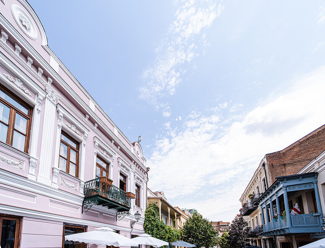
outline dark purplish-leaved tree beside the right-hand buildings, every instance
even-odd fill
[[[250,228],[242,216],[236,216],[229,227],[228,242],[230,248],[244,248],[249,243]]]

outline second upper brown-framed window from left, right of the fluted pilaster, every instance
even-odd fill
[[[72,176],[79,175],[79,142],[61,133],[59,168]]]

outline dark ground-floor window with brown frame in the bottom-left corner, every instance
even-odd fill
[[[0,216],[0,246],[18,248],[20,240],[21,218]]]

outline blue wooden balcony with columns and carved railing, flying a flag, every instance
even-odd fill
[[[277,180],[271,187],[256,201],[261,207],[263,222],[261,234],[263,236],[323,232],[323,213],[318,193],[317,176],[318,174],[313,172],[276,178]],[[300,192],[308,194],[310,190],[315,192],[318,213],[290,215],[288,196]],[[280,209],[280,201],[284,203],[285,211]],[[307,209],[307,206],[305,207]],[[286,213],[283,219],[277,215],[282,211]],[[268,212],[271,216],[267,214]],[[274,219],[273,216],[278,216],[278,219]]]

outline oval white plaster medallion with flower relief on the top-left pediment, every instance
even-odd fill
[[[32,22],[32,19],[25,13],[25,11],[16,4],[11,6],[12,15],[17,22],[19,28],[32,40],[37,39],[37,31]]]

